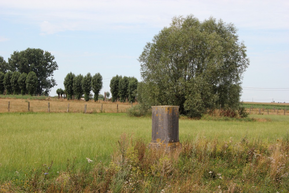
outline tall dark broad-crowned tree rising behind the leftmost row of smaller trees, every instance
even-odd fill
[[[8,58],[8,66],[11,71],[29,73],[33,71],[38,77],[36,93],[49,93],[56,84],[53,72],[58,69],[55,57],[50,52],[42,49],[27,48],[23,51],[14,51]]]

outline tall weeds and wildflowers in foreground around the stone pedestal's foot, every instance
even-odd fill
[[[56,174],[41,166],[1,192],[288,192],[288,155],[288,133],[272,144],[195,137],[175,149],[122,134],[108,164],[86,158],[77,169],[72,160]]]

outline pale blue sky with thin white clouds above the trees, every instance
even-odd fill
[[[8,61],[14,51],[43,49],[59,66],[51,96],[69,72],[99,72],[103,94],[116,74],[141,80],[137,58],[174,16],[213,16],[234,23],[247,46],[241,100],[289,103],[288,10],[289,1],[279,0],[0,0],[0,56]]]

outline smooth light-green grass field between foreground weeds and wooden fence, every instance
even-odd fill
[[[274,142],[286,135],[289,117],[254,115],[266,122],[180,120],[180,141],[197,136],[226,141],[260,138]],[[76,167],[86,158],[110,161],[122,133],[149,143],[151,118],[128,117],[125,113],[2,113],[0,114],[0,181],[24,177],[32,168],[53,161],[53,172],[66,170],[67,159]]]

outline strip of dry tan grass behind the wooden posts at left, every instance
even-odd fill
[[[69,103],[69,112],[82,113],[84,112],[84,105],[86,106],[87,113],[116,113],[117,103],[104,102],[93,100],[84,102],[79,100],[66,100],[66,99],[50,99],[50,100],[26,100],[26,99],[11,99],[1,98],[0,99],[0,113],[8,112],[8,101],[10,101],[10,112],[27,112],[28,102],[30,104],[30,111],[32,112],[48,112],[48,103],[50,103],[50,112],[64,113],[67,112]],[[129,103],[118,103],[118,112],[126,112],[126,109],[130,108]]]

